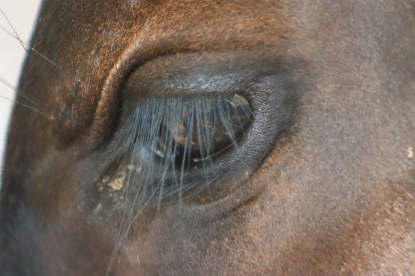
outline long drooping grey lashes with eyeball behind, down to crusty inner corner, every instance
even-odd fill
[[[200,191],[220,176],[211,167],[238,150],[252,120],[237,94],[145,99],[128,118],[124,157],[104,186],[158,203]]]

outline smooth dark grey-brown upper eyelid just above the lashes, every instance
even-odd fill
[[[264,77],[285,74],[281,57],[258,58],[254,52],[187,53],[150,60],[128,77],[123,94],[147,97],[246,93]],[[245,95],[249,98],[249,95]]]

